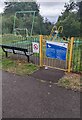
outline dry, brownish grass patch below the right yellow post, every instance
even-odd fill
[[[58,86],[82,92],[82,83],[80,78],[81,76],[79,74],[65,73],[65,75],[58,81]]]

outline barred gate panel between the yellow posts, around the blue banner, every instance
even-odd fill
[[[64,40],[63,38],[53,38],[53,40],[50,39],[50,36],[43,36],[43,65],[56,68],[56,69],[61,69],[61,70],[67,70],[67,61],[64,60],[59,60],[59,59],[54,59],[54,58],[49,58],[46,56],[46,42],[51,41],[51,42],[57,42],[57,43],[67,43],[68,41]]]

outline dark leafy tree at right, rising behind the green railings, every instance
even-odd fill
[[[62,13],[61,16],[59,16],[56,25],[63,26],[64,36],[67,37],[80,36],[81,21],[80,21],[80,16],[78,14],[79,7],[77,3],[71,2],[65,4],[64,7],[65,7],[65,11]]]

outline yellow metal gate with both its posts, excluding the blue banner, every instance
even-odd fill
[[[72,50],[73,50],[73,41],[72,37],[69,41],[63,40],[63,43],[67,43],[67,54],[66,60],[59,60],[54,58],[49,58],[46,56],[46,41],[49,41],[48,38],[40,35],[40,66],[48,66],[50,68],[55,68],[64,71],[71,71],[71,61],[72,61]],[[61,42],[61,40],[57,40],[56,42]]]

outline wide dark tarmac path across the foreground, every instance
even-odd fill
[[[80,117],[79,92],[8,72],[3,72],[2,84],[3,118]]]

